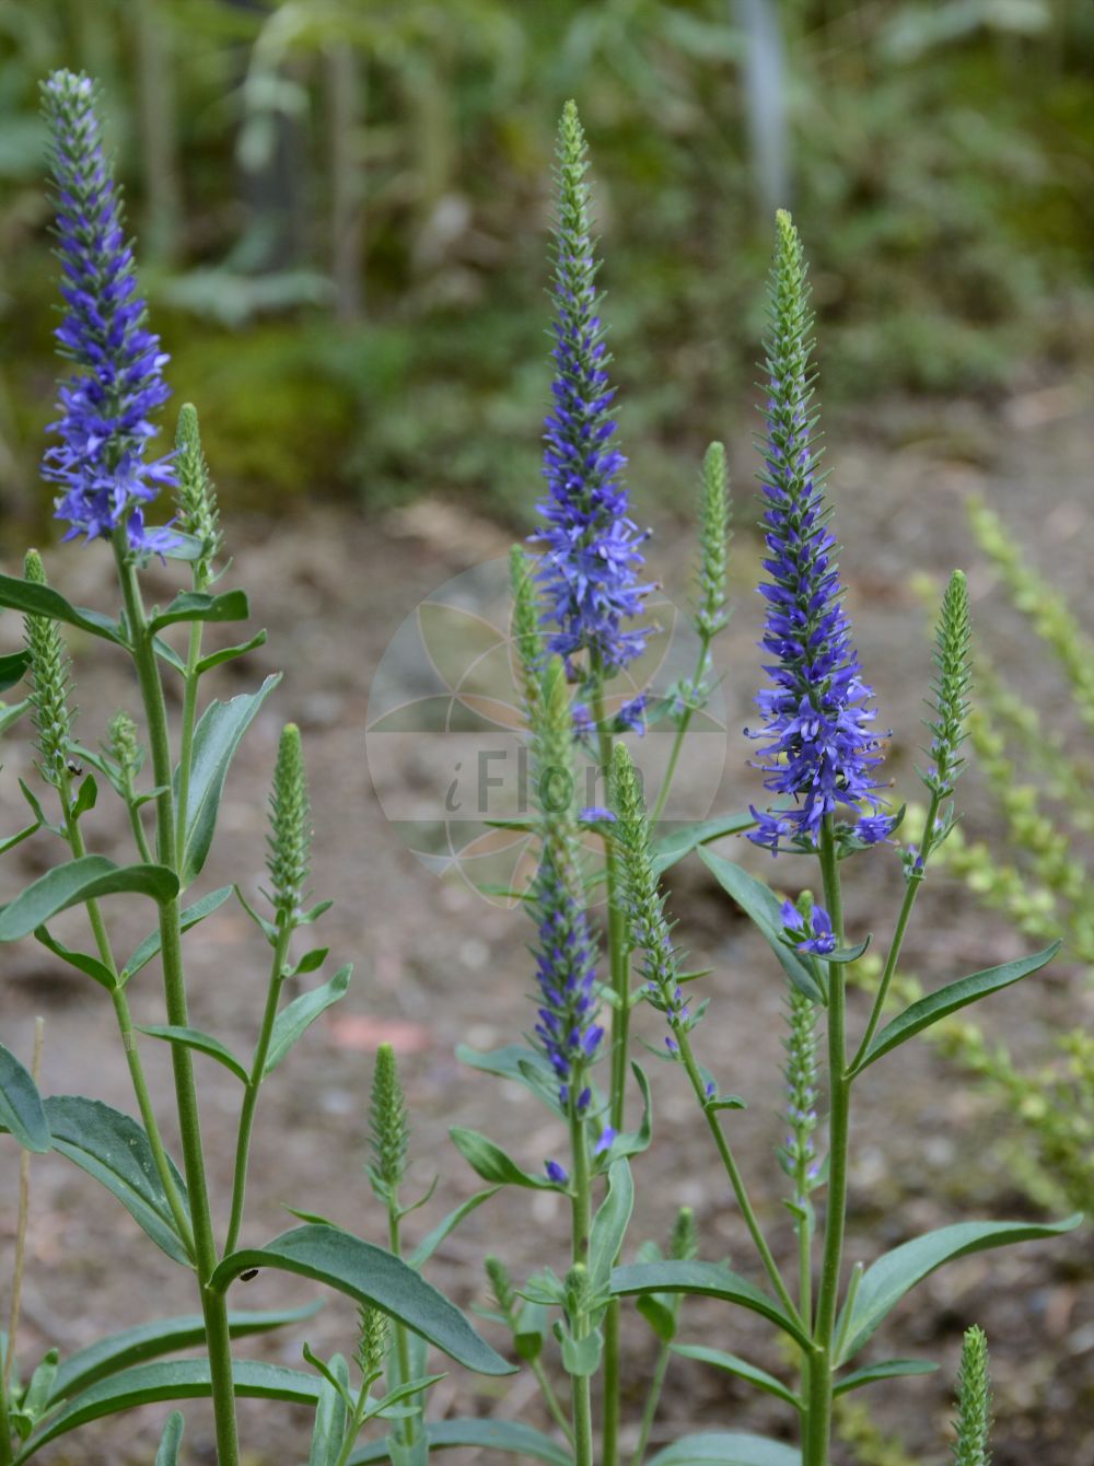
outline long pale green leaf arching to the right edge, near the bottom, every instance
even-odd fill
[[[1041,1237],[1059,1237],[1073,1231],[1082,1215],[1065,1221],[1038,1226],[1027,1221],[959,1221],[952,1227],[940,1227],[924,1237],[905,1242],[886,1252],[862,1274],[862,1281],[853,1297],[851,1318],[845,1321],[840,1312],[836,1337],[843,1338],[837,1365],[845,1363],[865,1344],[877,1325],[893,1309],[909,1289],[915,1287],[928,1272],[943,1262],[983,1252],[988,1248],[1003,1248],[1010,1242],[1037,1242]]]

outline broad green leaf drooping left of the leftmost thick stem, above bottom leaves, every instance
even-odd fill
[[[101,1182],[157,1248],[189,1267],[191,1259],[175,1230],[148,1136],[136,1120],[82,1095],[51,1095],[44,1108],[54,1151]],[[185,1207],[186,1185],[173,1165],[172,1174]]]

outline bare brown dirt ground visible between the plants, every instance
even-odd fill
[[[881,720],[897,730],[889,759],[896,792],[914,798],[917,720],[930,660],[922,611],[908,586],[909,572],[941,576],[955,563],[966,564],[978,632],[1029,696],[1063,715],[1051,668],[1007,613],[969,542],[963,501],[971,493],[987,496],[1034,559],[1073,591],[1081,607],[1088,605],[1094,438],[1081,416],[1081,396],[1072,388],[1031,391],[991,413],[961,403],[930,409],[892,405],[883,422],[846,421],[830,430],[829,438],[849,608]],[[751,481],[752,472],[748,440],[745,425],[736,434],[739,450],[733,454],[741,485]],[[744,525],[751,519],[748,494],[741,490],[736,497],[736,517]],[[685,515],[656,503],[642,507],[657,529],[651,550],[657,572],[670,591],[682,594],[691,556]],[[236,554],[227,583],[248,586],[255,623],[268,627],[270,642],[245,663],[221,670],[216,690],[227,696],[248,689],[277,667],[287,668],[287,674],[233,765],[201,888],[239,880],[254,891],[263,881],[268,771],[280,723],[296,720],[305,734],[312,787],[314,887],[318,896],[336,899],[321,938],[331,947],[331,962],[356,962],[353,987],[333,1010],[337,1017],[328,1014],[317,1025],[264,1091],[245,1239],[261,1242],[289,1226],[290,1218],[279,1209],[279,1202],[289,1202],[323,1211],[381,1240],[381,1211],[361,1164],[370,1050],[389,1034],[406,1048],[402,1073],[414,1116],[412,1180],[424,1187],[434,1173],[440,1174],[433,1201],[408,1221],[414,1239],[477,1189],[477,1179],[447,1141],[450,1124],[487,1130],[532,1168],[560,1142],[553,1120],[537,1111],[524,1091],[502,1088],[453,1058],[458,1042],[487,1048],[512,1041],[528,1026],[526,919],[427,872],[386,824],[365,758],[370,680],[394,629],[434,586],[504,553],[509,535],[441,500],[419,501],[414,510],[383,522],[328,504],[314,507],[306,520],[239,522],[230,512],[227,519]],[[736,736],[748,721],[758,676],[760,604],[746,592],[757,553],[755,537],[742,528],[732,572],[738,610],[719,647],[730,726],[719,809],[741,808],[757,792],[755,776],[745,767],[745,743]],[[48,556],[48,567],[70,598],[109,608],[113,598],[107,559],[101,550],[66,548]],[[166,589],[164,583],[161,598]],[[9,641],[18,636],[15,620],[4,619]],[[92,743],[113,708],[132,702],[132,693],[125,667],[103,644],[76,641],[73,651],[82,736]],[[704,748],[704,756],[713,756],[710,749]],[[16,776],[32,774],[25,729],[9,739],[4,764],[0,828],[7,830],[21,821]],[[975,781],[969,778],[966,800],[974,793]],[[104,853],[128,858],[122,825],[106,799],[103,805],[88,828]],[[991,830],[990,818],[975,809],[969,825],[974,831]],[[768,877],[777,875],[790,888],[808,878],[799,862],[771,869],[757,852],[733,847],[732,841],[723,849]],[[7,862],[3,890],[15,891],[37,875],[50,853],[41,840],[21,847],[18,859]],[[697,861],[678,868],[673,888],[682,940],[697,965],[714,968],[705,984],[711,1007],[698,1047],[724,1086],[749,1101],[748,1111],[727,1123],[776,1250],[789,1259],[792,1234],[770,1160],[779,1138],[783,1035],[773,959]],[[884,932],[899,890],[892,852],[855,862],[848,894],[851,931],[874,927]],[[111,919],[120,947],[144,934],[116,903]],[[1000,918],[985,915],[956,888],[937,881],[921,897],[906,960],[925,981],[940,982],[1022,950],[1022,940]],[[246,919],[226,906],[186,938],[186,951],[192,1020],[246,1053],[264,991],[264,946]],[[161,1020],[153,968],[135,984],[133,1003],[138,1022]],[[59,969],[41,949],[21,946],[4,956],[3,1041],[23,1057],[38,1013],[45,1017],[43,1089],[84,1092],[132,1110],[104,994]],[[1037,1053],[1047,1044],[1050,1025],[1073,1020],[1076,1013],[1094,1017],[1094,991],[1088,982],[1084,987],[1079,970],[1060,960],[1046,976],[994,1000],[985,1022],[1022,1053]],[[861,1022],[858,1006],[855,1017]],[[641,1019],[653,1039],[654,1020],[653,1013]],[[164,1056],[151,1039],[144,1051],[161,1113],[167,1114]],[[653,1067],[656,1136],[653,1149],[635,1165],[639,1204],[629,1248],[645,1236],[663,1237],[675,1205],[688,1202],[698,1215],[704,1256],[730,1255],[735,1267],[758,1278],[708,1136],[697,1124],[679,1076],[666,1066]],[[199,1079],[211,1183],[223,1224],[238,1089],[224,1070],[208,1063],[201,1063]],[[971,1215],[1035,1215],[1000,1160],[997,1142],[1009,1121],[928,1048],[902,1050],[873,1070],[856,1095],[852,1259],[871,1259],[922,1230]],[[12,1143],[3,1145],[9,1180],[0,1202],[0,1248],[9,1259],[16,1158]],[[189,1278],[169,1265],[81,1171],[59,1157],[35,1158],[32,1190],[19,1341],[23,1359],[37,1358],[54,1341],[70,1352],[103,1331],[192,1311]],[[465,1306],[482,1302],[481,1262],[487,1252],[507,1258],[518,1277],[544,1264],[562,1268],[565,1221],[556,1196],[504,1193],[443,1246],[428,1275]],[[308,1299],[315,1289],[263,1274],[239,1286],[238,1294],[241,1306],[263,1308]],[[1060,1242],[952,1265],[892,1315],[871,1346],[871,1358],[911,1353],[941,1363],[934,1377],[895,1381],[875,1387],[873,1394],[878,1421],[899,1432],[915,1460],[941,1462],[946,1456],[961,1331],[971,1321],[985,1327],[991,1343],[997,1466],[1032,1459],[1040,1466],[1093,1460],[1094,1264],[1088,1227]],[[685,1334],[768,1368],[783,1366],[761,1325],[722,1306],[689,1305]],[[305,1337],[320,1352],[350,1352],[352,1309],[334,1299],[306,1328],[245,1347],[257,1358],[298,1365]],[[651,1336],[636,1315],[628,1321],[625,1343],[626,1407],[634,1421],[654,1358]],[[41,1460],[54,1466],[150,1462],[166,1409],[100,1422],[44,1451]],[[534,1388],[524,1375],[515,1382],[490,1382],[453,1368],[433,1393],[433,1413],[472,1412],[540,1421]],[[188,1460],[213,1462],[207,1407],[188,1403],[185,1413]],[[252,1466],[306,1457],[302,1412],[245,1401],[241,1416]],[[785,1409],[767,1397],[679,1360],[656,1441],[666,1443],[689,1428],[780,1434],[788,1421]],[[478,1457],[462,1453],[462,1459]],[[874,1463],[862,1460],[861,1466]]]

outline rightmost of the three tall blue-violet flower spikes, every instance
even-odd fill
[[[871,689],[859,674],[843,613],[836,541],[827,529],[829,507],[817,474],[817,409],[812,406],[812,311],[798,232],[790,216],[777,216],[771,273],[770,330],[766,339],[768,400],[764,409],[763,525],[768,579],[761,642],[774,661],[764,670],[771,686],[757,696],[764,726],[758,767],[764,787],[789,795],[792,809],[757,814],[749,834],[773,853],[782,840],[817,844],[821,821],[843,814],[856,821],[878,808],[871,777],[881,762],[870,732]]]

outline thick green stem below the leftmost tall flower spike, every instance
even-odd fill
[[[160,861],[175,865],[175,799],[172,793],[172,755],[167,736],[167,708],[155,661],[155,648],[148,632],[136,569],[129,559],[125,529],[116,531],[114,554],[125,614],[132,638],[133,661],[141,685],[148,743],[153,755],[153,777],[161,790],[155,798],[155,837]],[[160,903],[160,951],[163,962],[167,1020],[182,1028],[188,1025],[186,978],[182,963],[182,929],[179,925],[179,897]],[[205,1160],[201,1146],[201,1117],[198,1092],[194,1082],[191,1053],[182,1044],[172,1044],[172,1070],[175,1076],[175,1098],[182,1136],[183,1171],[189,1190],[194,1218],[194,1248],[201,1296],[201,1311],[205,1321],[208,1344],[210,1380],[213,1385],[213,1413],[217,1435],[219,1466],[239,1466],[239,1434],[236,1426],[235,1380],[232,1374],[232,1337],[227,1327],[227,1299],[213,1293],[208,1280],[217,1265],[217,1245],[213,1236],[213,1214],[210,1209]]]

